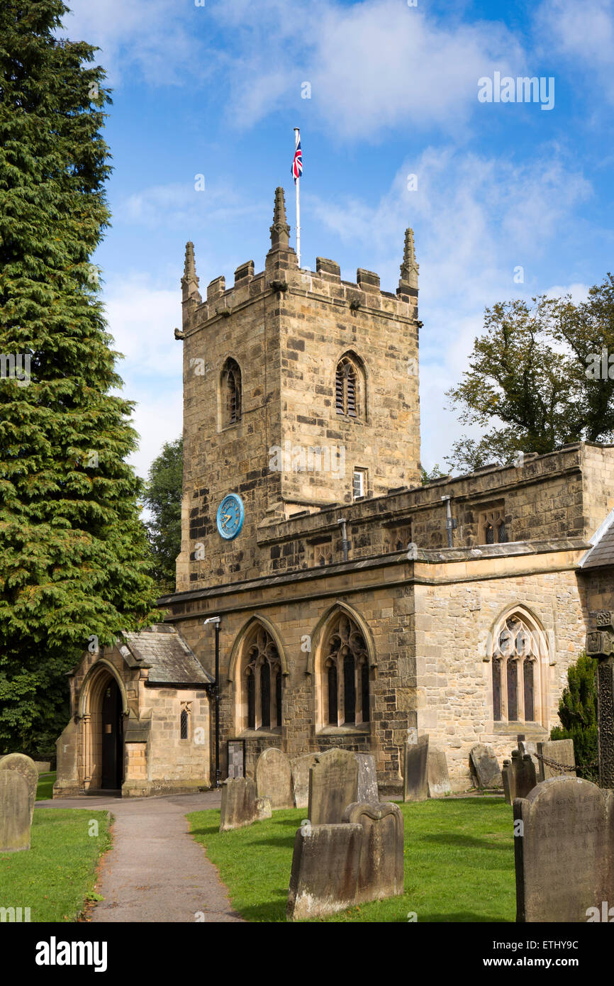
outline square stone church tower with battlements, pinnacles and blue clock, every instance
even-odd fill
[[[420,483],[413,232],[396,294],[323,257],[299,268],[283,188],[270,240],[262,272],[248,260],[204,301],[186,246],[177,592],[265,574],[271,525]]]

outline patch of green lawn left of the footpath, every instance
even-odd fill
[[[31,848],[0,853],[0,907],[30,907],[32,922],[75,921],[109,845],[106,811],[34,809]]]

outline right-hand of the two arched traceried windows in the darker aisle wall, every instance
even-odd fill
[[[345,613],[330,626],[324,641],[324,725],[368,723],[369,657],[362,632]]]

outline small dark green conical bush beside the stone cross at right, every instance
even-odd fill
[[[563,726],[555,726],[551,740],[574,740],[576,763],[582,767],[581,776],[598,781],[597,759],[597,662],[586,654],[580,654],[575,665],[567,672],[568,687],[559,702],[559,719]]]

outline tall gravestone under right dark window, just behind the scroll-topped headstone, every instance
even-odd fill
[[[348,805],[358,796],[358,760],[345,749],[318,753],[309,770],[309,804],[311,825],[328,825],[341,821]]]

